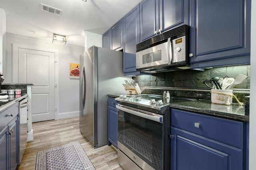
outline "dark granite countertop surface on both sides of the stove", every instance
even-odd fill
[[[120,95],[126,94],[108,94],[107,96],[119,97]],[[210,100],[193,100],[179,103],[170,103],[170,107],[204,115],[249,122],[249,115],[245,115],[245,106],[240,106],[238,103],[232,103],[231,105],[221,105],[212,103]]]

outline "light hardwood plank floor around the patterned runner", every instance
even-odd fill
[[[79,130],[79,117],[32,123],[34,141],[28,142],[19,170],[34,170],[36,154],[55,146],[79,141],[96,170],[123,170],[112,145],[94,149]]]

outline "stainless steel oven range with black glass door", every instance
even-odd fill
[[[170,169],[170,110],[162,96],[120,96],[118,163],[125,170]]]

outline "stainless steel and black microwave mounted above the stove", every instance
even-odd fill
[[[136,45],[136,70],[155,73],[189,69],[189,26],[183,25]]]

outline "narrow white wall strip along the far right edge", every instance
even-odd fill
[[[252,0],[251,12],[251,79],[250,79],[250,127],[249,127],[249,170],[256,170],[256,1]]]

